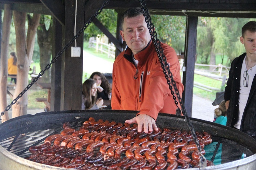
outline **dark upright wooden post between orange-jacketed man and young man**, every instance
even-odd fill
[[[185,42],[185,58],[184,63],[186,71],[183,72],[184,91],[182,93],[182,100],[189,117],[192,116],[192,102],[193,102],[193,86],[194,84],[194,70],[196,62],[196,44],[197,44],[197,22],[198,17],[187,17],[186,42]]]

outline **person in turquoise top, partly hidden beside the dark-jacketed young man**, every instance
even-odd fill
[[[227,124],[227,109],[225,106],[225,100],[221,101],[221,103],[219,103],[219,107],[214,109],[214,118],[216,118],[215,123],[221,124],[226,126]]]

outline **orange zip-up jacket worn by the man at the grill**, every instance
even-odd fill
[[[170,71],[181,96],[184,86],[176,52],[167,44],[161,43],[161,47],[170,64]],[[132,61],[132,51],[127,47],[114,62],[112,109],[139,110],[138,114],[150,115],[155,120],[159,112],[175,114],[177,106],[163,74],[153,42],[150,41],[147,47],[137,53],[134,58],[139,61],[137,68]]]

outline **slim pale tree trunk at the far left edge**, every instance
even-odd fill
[[[0,66],[0,109],[1,112],[4,111],[7,106],[6,98],[6,83],[8,75],[8,46],[9,46],[9,37],[10,37],[10,27],[12,20],[12,11],[11,4],[4,4],[4,15],[3,15],[3,30],[2,30],[2,41],[1,41],[1,66]],[[1,117],[2,122],[9,120],[8,111],[4,113]]]

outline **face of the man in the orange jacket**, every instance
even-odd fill
[[[126,17],[124,19],[123,31],[120,31],[120,34],[133,54],[145,48],[151,39],[145,18],[142,14],[132,18]]]

